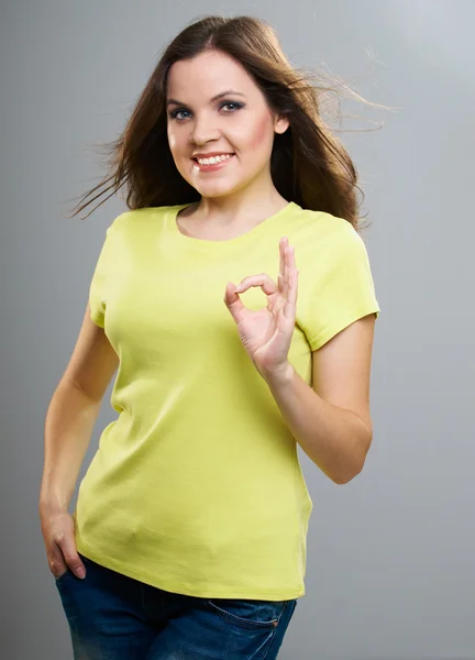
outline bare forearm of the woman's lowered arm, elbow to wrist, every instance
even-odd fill
[[[73,384],[56,388],[45,418],[40,513],[67,510],[99,409],[100,402]]]

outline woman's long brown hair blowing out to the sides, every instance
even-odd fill
[[[276,32],[253,16],[207,15],[185,28],[165,48],[126,125],[117,141],[106,143],[108,175],[81,197],[74,217],[95,199],[122,186],[129,209],[191,204],[199,193],[175,166],[167,140],[166,85],[170,66],[206,50],[227,53],[241,63],[265,96],[269,108],[289,119],[275,134],[270,174],[278,193],[306,209],[327,211],[360,229],[355,165],[324,122],[321,110],[335,86],[312,85],[311,74],[294,67],[284,55]],[[319,79],[323,78],[319,74]],[[328,76],[334,84],[336,78]],[[350,96],[371,106],[344,86]],[[383,107],[383,106],[378,106]],[[106,187],[86,201],[100,188]],[[107,199],[101,201],[101,206]],[[96,208],[98,208],[96,207]],[[90,211],[91,213],[92,211]],[[88,216],[90,215],[88,213]]]

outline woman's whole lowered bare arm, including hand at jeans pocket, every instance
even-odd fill
[[[88,304],[76,346],[45,419],[38,509],[49,570],[56,579],[68,568],[78,578],[86,574],[68,506],[102,397],[118,364],[103,329],[90,318]]]

